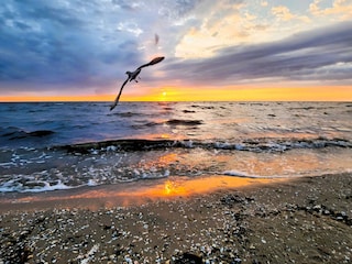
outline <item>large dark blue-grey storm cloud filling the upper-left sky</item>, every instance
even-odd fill
[[[6,1],[0,6],[0,90],[100,87],[124,78],[127,69],[144,63],[140,34],[153,37],[158,32],[151,24],[169,23],[197,2]]]

